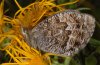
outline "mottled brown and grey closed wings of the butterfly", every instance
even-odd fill
[[[30,30],[29,44],[44,52],[73,56],[89,42],[95,18],[77,10],[65,10],[49,16]]]

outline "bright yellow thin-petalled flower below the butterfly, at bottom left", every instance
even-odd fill
[[[0,37],[11,38],[11,42],[8,46],[1,50],[5,50],[11,57],[9,63],[3,63],[2,65],[48,65],[49,61],[46,57],[34,48],[29,47],[23,40],[18,39],[15,35],[0,35]],[[12,62],[13,61],[13,62]]]

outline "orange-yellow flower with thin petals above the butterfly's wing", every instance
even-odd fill
[[[15,13],[15,18],[19,20],[22,27],[31,29],[45,17],[53,15],[61,10],[65,10],[62,6],[74,4],[78,1],[79,0],[75,0],[74,2],[56,5],[54,0],[37,0],[22,8],[15,0],[15,3],[19,7],[19,10]],[[57,10],[54,10],[53,8],[56,8]]]

